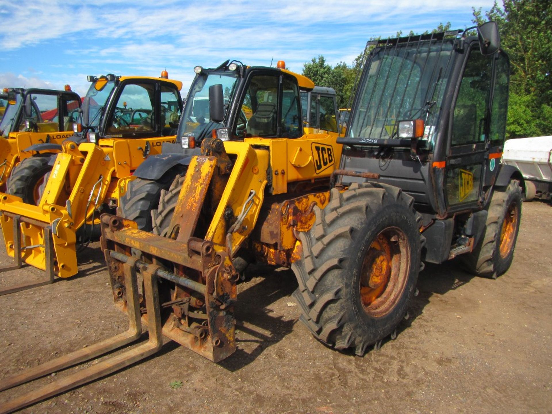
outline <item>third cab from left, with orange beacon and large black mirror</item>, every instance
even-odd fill
[[[285,70],[285,63],[272,68],[227,60],[194,71],[178,129],[182,148],[199,147],[214,130],[222,141],[303,135],[299,90],[314,84]]]

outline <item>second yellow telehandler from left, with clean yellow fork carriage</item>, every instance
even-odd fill
[[[115,213],[135,169],[176,137],[182,82],[114,75],[88,80],[78,131],[63,141],[61,153],[42,169],[31,169],[33,157],[25,158],[8,190],[15,182],[29,185],[16,194],[0,193],[0,223],[13,267],[27,263],[45,270],[38,284],[77,273],[77,243],[81,248],[99,237],[99,214]],[[172,178],[157,181],[157,198]],[[0,295],[36,285],[13,286]]]

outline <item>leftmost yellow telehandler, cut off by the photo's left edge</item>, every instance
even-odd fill
[[[11,88],[5,92],[6,116],[0,121],[0,189],[36,198],[49,161],[61,151],[61,143],[73,135],[81,97],[69,85],[65,91]],[[17,172],[26,158],[32,161]],[[13,172],[17,172],[17,179],[10,181]]]

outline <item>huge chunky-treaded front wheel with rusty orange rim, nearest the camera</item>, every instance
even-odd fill
[[[364,355],[395,335],[420,270],[421,215],[413,202],[391,185],[354,183],[331,190],[323,210],[315,207],[292,268],[300,320],[317,339]]]

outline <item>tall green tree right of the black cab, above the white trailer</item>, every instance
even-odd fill
[[[552,2],[504,0],[473,14],[476,24],[497,22],[510,58],[507,136],[552,134]]]

